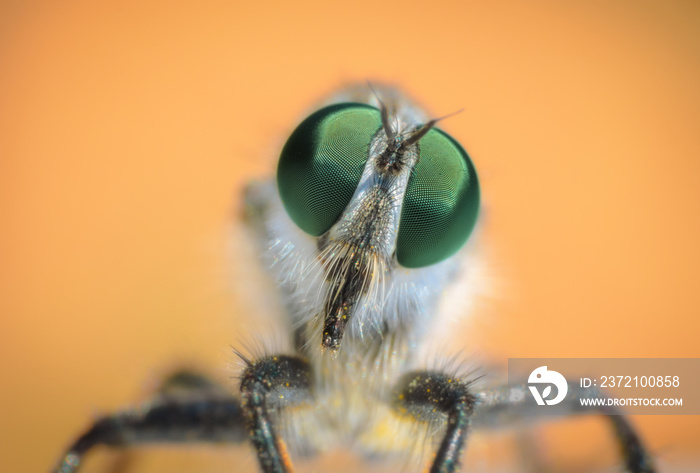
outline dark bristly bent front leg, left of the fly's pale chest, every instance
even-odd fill
[[[271,356],[248,362],[241,379],[248,436],[263,473],[292,470],[284,443],[275,432],[272,412],[311,400],[311,368],[298,357]]]

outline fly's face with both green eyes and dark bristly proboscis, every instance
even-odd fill
[[[395,270],[457,252],[479,208],[476,171],[454,139],[418,117],[360,103],[304,120],[282,150],[277,183],[289,217],[318,238],[329,285],[321,343],[331,350],[358,305],[383,303],[377,285],[391,289]]]

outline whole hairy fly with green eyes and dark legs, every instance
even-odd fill
[[[77,471],[98,444],[247,441],[263,473],[283,473],[288,445],[303,455],[349,445],[376,459],[427,439],[429,471],[448,473],[471,430],[527,409],[506,386],[477,388],[469,374],[421,360],[480,205],[474,164],[438,120],[395,88],[365,85],[303,120],[276,182],[246,191],[290,350],[241,354],[238,396],[193,373],[172,376],[153,400],[96,421],[54,471]],[[629,471],[655,471],[623,416],[595,413],[612,424]]]

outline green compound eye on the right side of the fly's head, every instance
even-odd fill
[[[436,128],[420,139],[418,148],[396,242],[396,259],[407,268],[439,263],[455,254],[479,213],[479,181],[464,148]]]

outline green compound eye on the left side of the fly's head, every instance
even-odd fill
[[[341,103],[315,112],[294,130],[282,149],[277,186],[287,214],[299,228],[319,236],[338,221],[381,126],[376,108]]]

